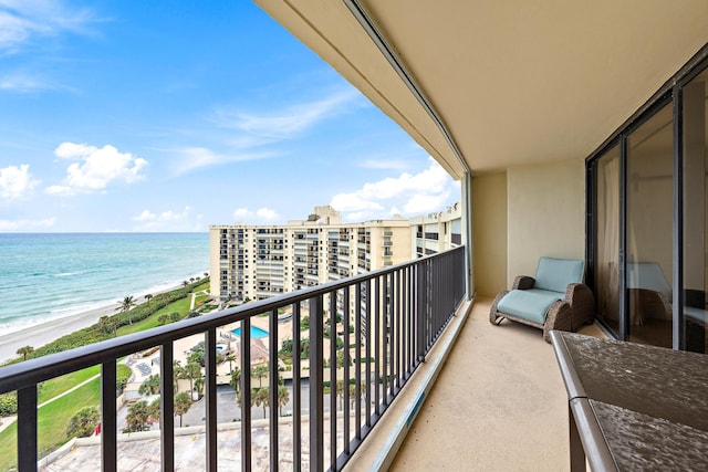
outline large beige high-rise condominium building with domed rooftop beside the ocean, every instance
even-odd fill
[[[284,225],[211,225],[211,294],[243,302],[348,277],[413,259],[412,241],[404,218],[342,223],[330,206]]]

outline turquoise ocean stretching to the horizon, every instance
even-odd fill
[[[209,271],[209,233],[0,233],[0,335]]]

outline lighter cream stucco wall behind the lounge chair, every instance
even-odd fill
[[[585,256],[582,159],[507,170],[507,285],[533,275],[541,255]]]

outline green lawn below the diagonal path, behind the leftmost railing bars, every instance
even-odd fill
[[[86,369],[90,370],[90,369]],[[76,411],[86,406],[101,403],[101,379],[95,379],[71,394],[52,401],[38,410],[39,457],[69,441],[66,426]],[[0,470],[17,466],[18,424],[0,431]]]

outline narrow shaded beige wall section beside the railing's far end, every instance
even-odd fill
[[[507,286],[507,175],[472,179],[475,290],[496,295]]]

